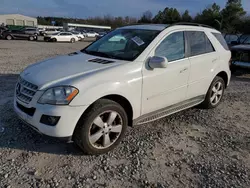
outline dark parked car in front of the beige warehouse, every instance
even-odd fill
[[[7,40],[12,39],[26,39],[26,40],[37,40],[37,33],[31,30],[6,30],[2,33],[2,38]]]

